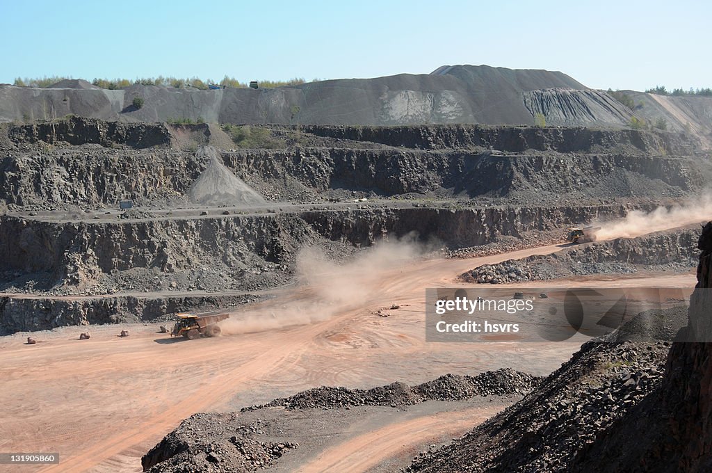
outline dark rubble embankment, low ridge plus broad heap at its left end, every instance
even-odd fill
[[[523,395],[539,381],[535,376],[503,369],[476,376],[445,375],[412,388],[404,383],[370,390],[316,388],[268,405],[248,407],[240,415],[193,415],[147,452],[141,463],[144,471],[153,473],[201,470],[211,464],[221,471],[253,472],[272,466],[290,450],[313,448],[310,444],[315,443],[314,436],[295,427],[308,422],[336,423],[330,419],[335,416],[326,415],[325,410],[340,411],[337,416],[348,416],[357,424],[369,407],[402,410],[427,400]],[[285,410],[270,409],[275,406],[299,411],[300,415],[294,417]],[[358,410],[359,407],[364,409]],[[293,425],[295,420],[297,426]],[[295,431],[301,435],[294,435]]]

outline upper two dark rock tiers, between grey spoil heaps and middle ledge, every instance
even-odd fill
[[[191,187],[195,198],[219,192],[226,192],[219,201],[258,198],[235,179],[271,201],[358,192],[487,199],[495,204],[592,199],[600,204],[612,196],[681,197],[712,179],[706,160],[694,155],[695,140],[634,130],[307,127],[303,135],[328,137],[330,147],[222,152],[216,157],[220,165],[209,166],[215,160],[206,152],[141,148],[153,141],[140,136],[122,139],[127,145],[105,141],[112,127],[159,135],[158,142],[164,144],[184,133],[164,125],[72,118],[42,126],[46,130],[41,134],[30,126],[9,131],[15,147],[0,155],[0,202],[10,207],[96,208],[125,199],[137,205],[167,200],[185,205]],[[86,135],[68,132],[72,127]],[[27,149],[26,143],[40,139],[55,145]],[[61,145],[66,140],[83,145]],[[96,146],[102,144],[108,147]],[[204,177],[197,182],[201,173]]]

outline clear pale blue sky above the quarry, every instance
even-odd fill
[[[562,71],[594,88],[712,86],[709,1],[0,0],[0,82]]]

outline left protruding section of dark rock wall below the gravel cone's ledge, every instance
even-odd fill
[[[97,224],[0,217],[0,232],[0,271],[66,277],[82,267],[174,271],[200,266],[209,256],[229,261],[231,251],[279,261],[285,245],[305,237],[308,227],[298,218],[269,215]]]

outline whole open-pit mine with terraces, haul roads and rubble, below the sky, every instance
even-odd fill
[[[457,67],[422,87],[478,71]],[[220,94],[194,125],[140,115],[162,88],[121,91],[153,94],[129,119],[129,97],[76,84],[41,92],[73,115],[21,123],[29,91],[0,87],[0,452],[59,458],[0,471],[704,471],[678,407],[709,393],[681,374],[709,372],[708,344],[673,342],[706,323],[708,135],[627,128],[557,74],[497,116],[458,98],[475,82],[428,99],[451,116],[384,92],[361,125],[315,102],[320,83],[182,91]],[[234,108],[275,94],[301,123]],[[515,125],[536,113],[554,126]],[[493,288],[666,296],[631,322],[659,322],[644,341],[426,341],[426,289]]]

